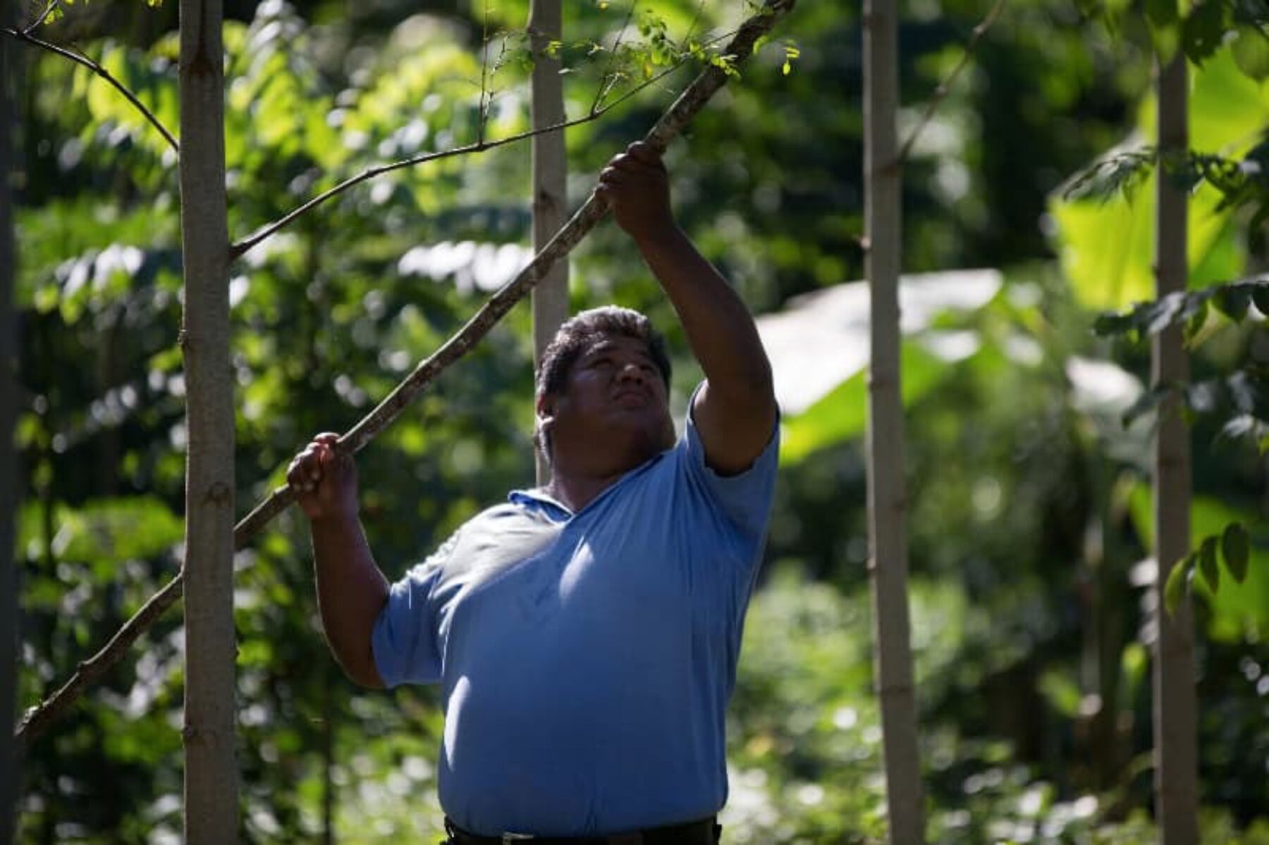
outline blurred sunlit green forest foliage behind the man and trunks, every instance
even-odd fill
[[[174,4],[60,11],[44,37],[77,44],[176,126]],[[560,46],[570,115],[591,108],[614,67],[594,43],[624,33],[673,47],[744,11],[571,4]],[[472,142],[481,127],[528,128],[525,4],[266,0],[226,13],[236,239],[368,166]],[[901,137],[915,136],[904,269],[934,274],[904,293],[929,839],[1155,841],[1148,350],[1093,330],[1100,312],[1150,297],[1154,176],[1104,167],[1110,179],[1079,183],[1090,195],[1067,190],[1094,161],[1150,143],[1145,19],[1072,0],[911,0],[900,20]],[[1192,146],[1263,178],[1269,70],[1236,44],[1213,44],[1192,69]],[[647,72],[667,67],[669,47],[645,53]],[[574,204],[685,72],[569,129]],[[29,48],[22,74],[19,711],[178,572],[185,445],[174,156],[82,66]],[[624,88],[643,75],[631,69]],[[731,708],[723,822],[735,842],[884,832],[867,297],[849,284],[863,275],[860,90],[858,8],[803,3],[667,154],[680,222],[761,315],[784,407]],[[529,195],[527,145],[447,159],[364,183],[235,264],[240,504],[280,483],[310,435],[350,428],[514,274],[528,258]],[[1192,287],[1266,270],[1264,219],[1226,199],[1195,185]],[[617,301],[667,330],[681,411],[699,369],[628,241],[603,226],[570,263],[574,310]],[[1214,594],[1193,582],[1202,827],[1204,841],[1269,842],[1269,412],[1263,395],[1246,406],[1237,384],[1217,390],[1269,345],[1258,308],[1223,311],[1192,321],[1195,382],[1209,386],[1190,402],[1192,519],[1195,539],[1241,521],[1254,565]],[[520,308],[359,455],[363,519],[390,577],[532,483],[530,433]],[[369,693],[341,676],[297,514],[236,570],[244,841],[437,837],[434,690]],[[179,841],[181,645],[174,610],[32,743],[19,841]]]

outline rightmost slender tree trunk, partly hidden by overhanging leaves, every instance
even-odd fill
[[[1162,298],[1184,291],[1187,282],[1187,195],[1165,173],[1165,164],[1184,155],[1189,145],[1185,56],[1178,51],[1157,72],[1160,166],[1155,194],[1155,273],[1156,296]],[[1151,359],[1154,386],[1189,378],[1180,327],[1155,335]],[[1155,439],[1155,557],[1159,561],[1155,586],[1159,634],[1154,660],[1155,815],[1162,845],[1198,842],[1194,620],[1188,595],[1173,615],[1164,605],[1167,573],[1189,552],[1189,431],[1174,392],[1159,409]]]

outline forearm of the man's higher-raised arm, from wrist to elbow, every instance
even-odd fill
[[[772,368],[749,308],[674,223],[636,240],[679,313],[709,391],[737,401],[772,393]]]

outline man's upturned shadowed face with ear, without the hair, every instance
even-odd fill
[[[631,469],[674,445],[665,384],[647,344],[626,335],[598,337],[569,369],[565,388],[539,401],[551,450],[579,467]]]

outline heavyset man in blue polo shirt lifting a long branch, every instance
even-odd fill
[[[754,322],[674,223],[667,183],[636,143],[598,192],[706,374],[678,444],[662,343],[609,307],[565,324],[543,357],[536,440],[551,482],[477,515],[396,585],[371,556],[336,436],[288,472],[340,665],[367,686],[442,684],[449,842],[717,841],[777,410]]]

